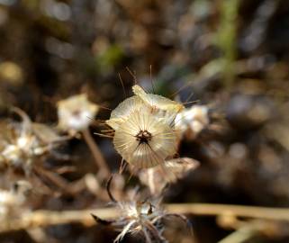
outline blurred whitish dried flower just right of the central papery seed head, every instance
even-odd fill
[[[196,136],[209,125],[209,109],[205,105],[193,105],[177,114],[176,128],[186,139]]]

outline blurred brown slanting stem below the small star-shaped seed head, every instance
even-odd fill
[[[92,138],[88,129],[83,130],[82,134],[86,140],[86,144],[88,145],[90,151],[93,154],[93,157],[95,158],[96,165],[99,167],[100,170],[104,172],[104,177],[107,177],[111,174],[111,171],[104,160],[102,152],[97,147],[95,140]]]

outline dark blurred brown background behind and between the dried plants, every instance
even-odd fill
[[[125,98],[119,74],[131,94],[127,67],[146,89],[152,79],[157,94],[210,108],[210,126],[179,151],[201,166],[174,184],[165,202],[289,206],[288,62],[286,0],[0,0],[2,117],[14,105],[33,121],[56,124],[55,104],[80,92],[113,109]],[[98,118],[109,114],[101,110]],[[111,141],[95,141],[117,169]],[[94,172],[81,140],[66,149],[77,165],[68,180]],[[46,198],[35,207],[80,209],[93,200]],[[190,219],[195,242],[230,233],[213,217]],[[51,227],[47,242],[111,242],[102,230]],[[33,242],[24,232],[0,236],[0,242],[26,241]],[[246,242],[289,242],[289,233]]]

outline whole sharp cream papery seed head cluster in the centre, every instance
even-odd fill
[[[158,166],[176,154],[176,115],[184,106],[134,85],[135,95],[124,100],[106,123],[115,130],[113,144],[131,165]]]

